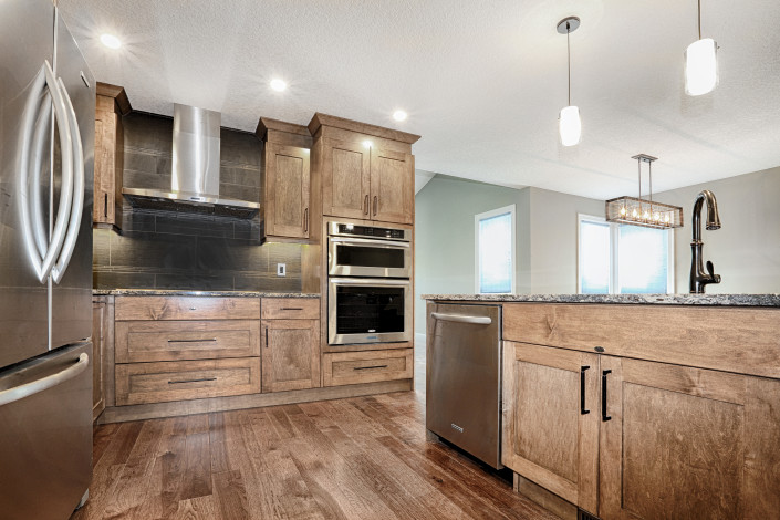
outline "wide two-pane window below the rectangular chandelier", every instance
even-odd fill
[[[580,215],[580,294],[663,294],[674,292],[674,235]]]

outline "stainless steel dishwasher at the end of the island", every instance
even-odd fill
[[[428,430],[501,466],[501,308],[428,303]]]

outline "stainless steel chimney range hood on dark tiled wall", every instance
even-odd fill
[[[252,218],[259,202],[219,195],[219,112],[174,105],[170,190],[122,188],[133,207]]]

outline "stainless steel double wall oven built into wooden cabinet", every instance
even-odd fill
[[[327,225],[327,343],[412,341],[412,231]]]

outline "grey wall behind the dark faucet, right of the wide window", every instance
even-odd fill
[[[715,194],[722,223],[701,231],[705,261],[722,278],[707,292],[780,293],[780,167],[658,194],[658,200],[682,206],[685,216],[685,227],[675,232],[676,292],[688,292],[690,211],[703,189]]]

